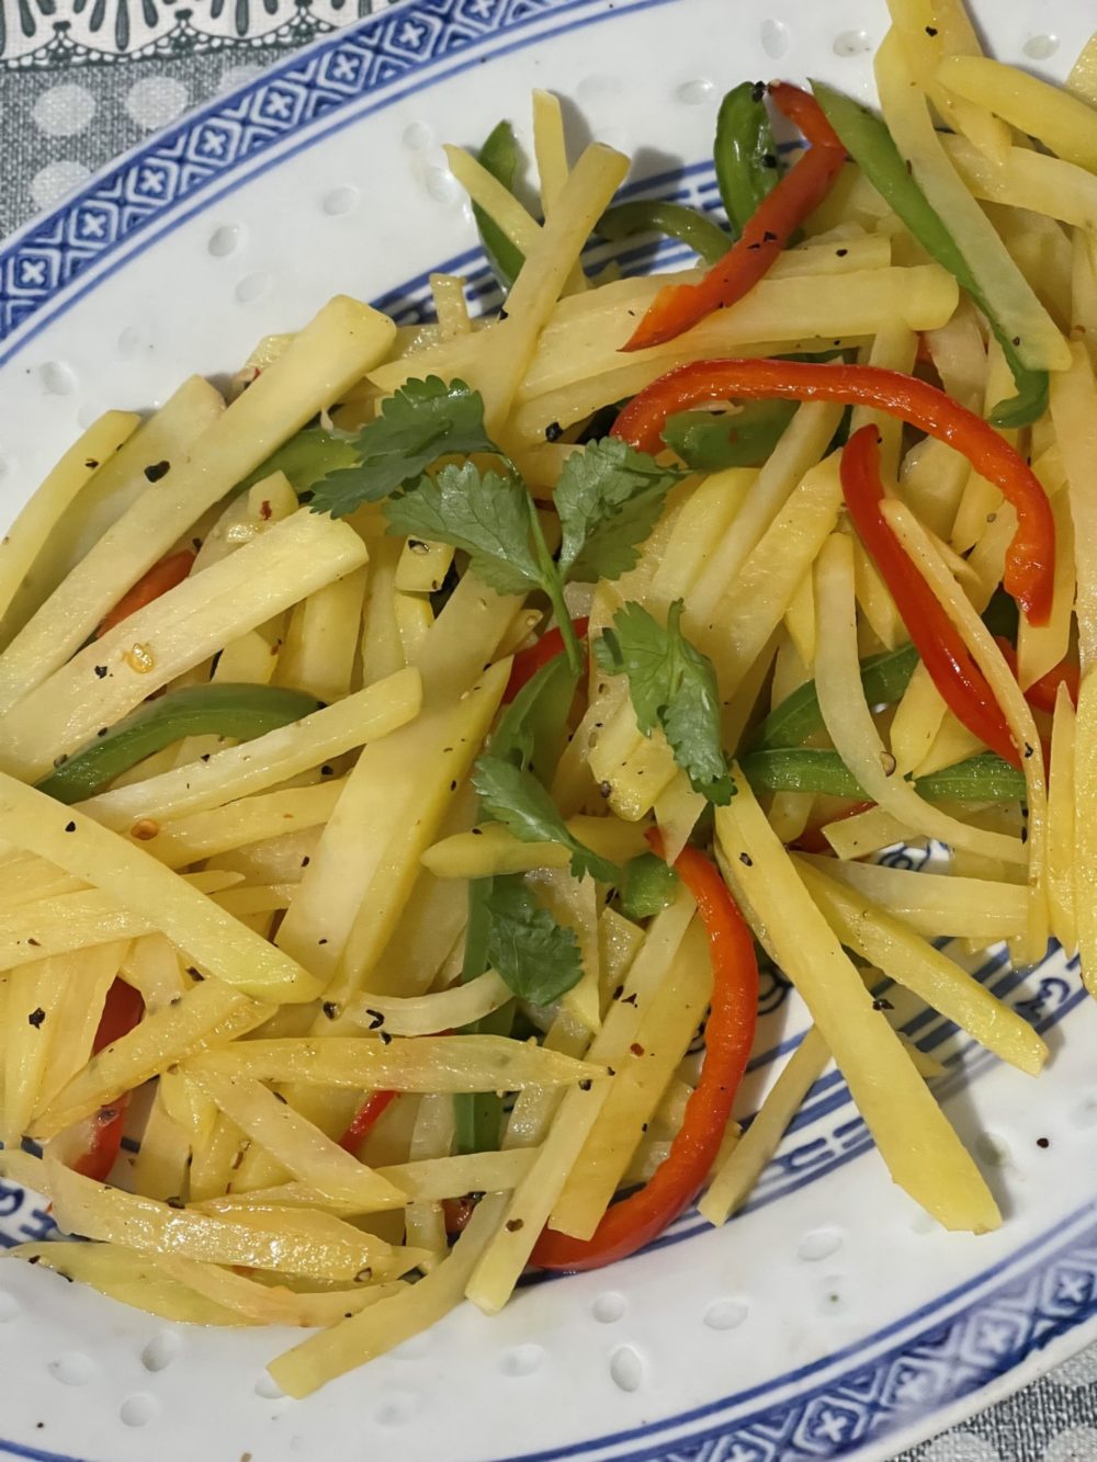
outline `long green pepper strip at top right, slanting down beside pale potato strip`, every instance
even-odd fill
[[[957,284],[967,289],[987,317],[1017,383],[1017,395],[1009,401],[1000,401],[990,414],[992,425],[1025,427],[1036,421],[1047,408],[1047,371],[1028,370],[1021,364],[1012,338],[995,319],[971,266],[907,170],[886,123],[841,92],[823,86],[822,82],[813,82],[812,86],[842,146],[883,202],[898,213],[926,253],[943,265]]]

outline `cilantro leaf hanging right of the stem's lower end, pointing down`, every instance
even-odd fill
[[[682,599],[670,607],[666,629],[639,604],[626,604],[595,645],[598,665],[629,677],[636,725],[651,735],[663,728],[674,760],[695,792],[725,807],[733,784],[720,744],[720,694],[708,656],[682,633]]]

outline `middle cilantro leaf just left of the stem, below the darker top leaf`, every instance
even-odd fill
[[[546,586],[529,541],[532,501],[510,477],[449,463],[389,499],[385,515],[389,532],[464,548],[472,572],[497,594]]]

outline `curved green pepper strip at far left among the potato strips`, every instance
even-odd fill
[[[323,702],[279,686],[186,686],[146,702],[38,782],[59,803],[94,797],[146,756],[189,735],[250,741],[265,731],[300,721]]]

